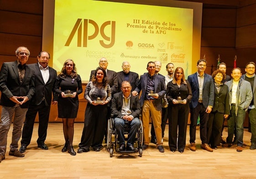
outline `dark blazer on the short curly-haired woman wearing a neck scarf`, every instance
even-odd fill
[[[229,87],[225,84],[220,87],[219,93],[214,84],[214,106],[212,112],[215,111],[230,114]]]

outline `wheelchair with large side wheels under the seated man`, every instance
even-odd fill
[[[130,125],[128,121],[125,121],[125,141],[128,139],[128,135],[130,132]],[[113,137],[112,137],[113,135]],[[138,148],[139,156],[142,157],[142,142],[143,142],[143,128],[142,122],[140,120],[140,127],[138,128],[138,132],[136,133],[135,137],[135,147]],[[110,157],[113,157],[114,148],[115,152],[120,155],[130,155],[131,153],[137,153],[135,151],[120,151],[117,152],[117,143],[118,143],[118,135],[115,129],[114,118],[111,115],[111,118],[108,119],[108,126],[107,126],[107,151],[110,153]]]

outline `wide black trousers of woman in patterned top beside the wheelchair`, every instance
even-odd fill
[[[84,129],[79,148],[100,148],[104,139],[107,106],[87,104],[84,114]]]

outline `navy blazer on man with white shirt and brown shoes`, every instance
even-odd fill
[[[199,82],[197,72],[188,76],[188,82],[192,90],[192,100],[190,102],[190,107],[195,108],[197,107],[199,100]],[[204,73],[203,105],[205,108],[214,105],[214,82],[212,76],[206,73]]]

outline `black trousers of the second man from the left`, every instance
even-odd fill
[[[30,105],[28,107],[22,129],[21,145],[28,146],[30,144],[37,113],[39,117],[37,144],[44,143],[47,136],[50,109],[51,106],[46,106],[44,101],[39,105]]]

